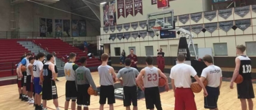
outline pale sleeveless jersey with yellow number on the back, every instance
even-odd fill
[[[64,66],[66,80],[75,80],[75,70],[73,70],[73,65],[75,65],[75,63],[68,62]]]

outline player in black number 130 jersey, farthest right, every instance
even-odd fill
[[[237,78],[237,75],[240,74],[243,76],[244,80],[242,83],[237,84],[237,95],[241,102],[241,109],[246,110],[246,99],[248,102],[249,110],[253,110],[253,100],[255,98],[252,84],[252,66],[250,58],[244,55],[244,51],[246,51],[246,46],[237,45],[237,58],[235,58],[235,71],[232,76],[232,80],[230,83],[230,89],[233,89],[234,80]]]

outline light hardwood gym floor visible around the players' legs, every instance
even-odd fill
[[[93,80],[97,86],[99,85],[99,76],[98,72],[92,73]],[[169,77],[169,76],[168,76]],[[64,102],[65,102],[65,78],[58,78],[60,82],[57,82],[57,93],[59,95],[59,104],[60,109],[64,110]],[[236,85],[234,89],[229,89],[229,82],[223,82],[221,86],[221,95],[219,96],[218,106],[220,110],[237,110],[241,108],[240,102],[237,99],[237,89]],[[253,84],[255,87],[256,84]],[[27,104],[27,102],[21,102],[18,99],[18,91],[17,84],[15,85],[6,85],[0,87],[0,109],[1,110],[33,110],[35,109],[32,104]],[[254,88],[256,91],[256,87]],[[199,94],[195,94],[196,106],[198,110],[204,110],[203,108],[203,92]],[[253,99],[256,102],[256,99]],[[99,109],[99,96],[91,96],[91,106],[89,109]],[[161,93],[161,102],[164,110],[172,110],[174,109],[174,94],[173,91],[170,90],[168,92]],[[70,104],[71,105],[71,104]],[[114,104],[114,109],[123,110],[125,109],[122,105],[122,100],[116,100],[116,104]],[[53,101],[50,100],[47,102],[48,109],[55,109]],[[105,105],[105,109],[109,109],[108,105]],[[145,100],[138,100],[138,109],[145,110]],[[254,107],[256,109],[256,106]]]

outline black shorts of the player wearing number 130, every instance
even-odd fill
[[[246,99],[255,98],[252,80],[243,80],[242,83],[237,84],[237,96]]]

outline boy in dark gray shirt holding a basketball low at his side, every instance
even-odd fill
[[[91,77],[90,69],[85,67],[86,57],[81,57],[79,62],[81,63],[81,66],[75,70],[75,81],[77,83],[77,110],[82,110],[82,105],[84,106],[84,110],[88,110],[91,96],[88,94],[87,90],[90,85],[95,91],[98,89]]]

